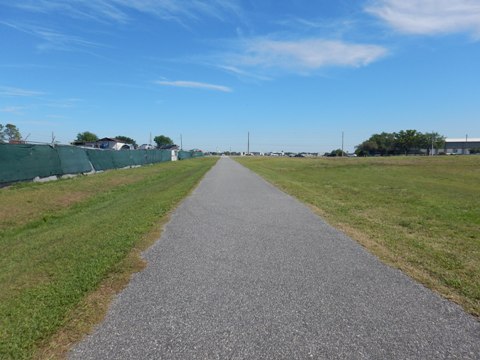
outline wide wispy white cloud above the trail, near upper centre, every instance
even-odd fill
[[[240,51],[224,56],[229,66],[271,68],[297,73],[310,73],[327,66],[365,66],[388,52],[377,45],[324,39],[294,41],[254,38],[243,40],[238,48]]]

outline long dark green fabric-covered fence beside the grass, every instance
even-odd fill
[[[199,156],[203,154],[179,151],[180,160]],[[0,144],[0,184],[32,180],[37,176],[79,174],[171,160],[171,150],[114,151],[68,145]]]

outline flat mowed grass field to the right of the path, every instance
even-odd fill
[[[236,159],[480,315],[480,156]]]

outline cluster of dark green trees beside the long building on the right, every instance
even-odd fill
[[[373,134],[356,147],[358,156],[388,156],[430,154],[432,147],[437,150],[445,146],[445,136],[436,132],[421,133],[417,130],[401,130],[394,133]]]

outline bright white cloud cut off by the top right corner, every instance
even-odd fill
[[[480,39],[479,0],[374,0],[366,11],[402,33],[467,32]]]

